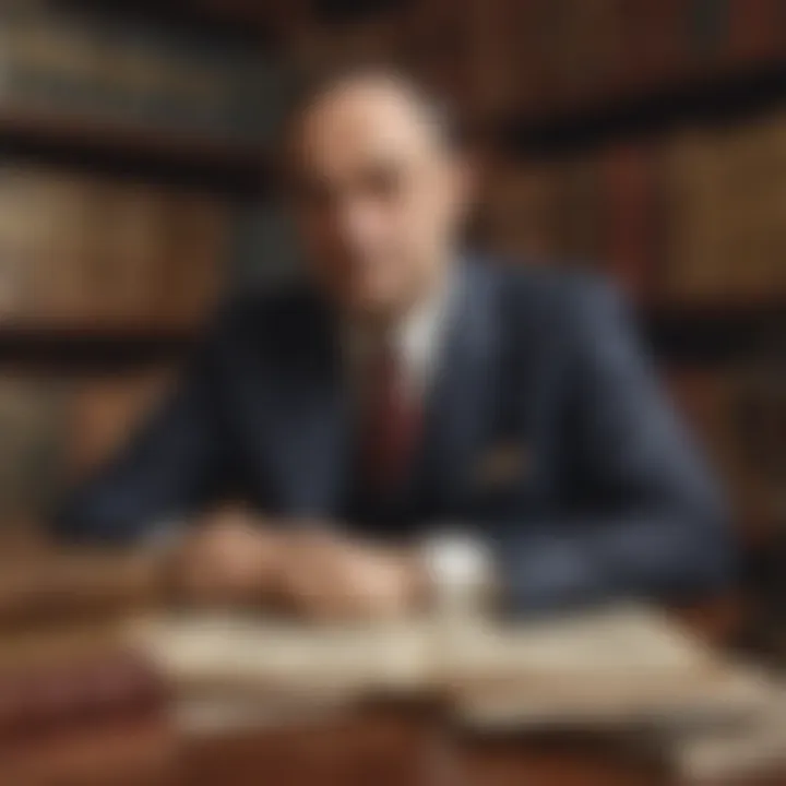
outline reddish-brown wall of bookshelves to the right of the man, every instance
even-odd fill
[[[782,525],[784,3],[424,0],[289,51],[390,60],[448,95],[485,164],[473,240],[614,279],[740,526]]]

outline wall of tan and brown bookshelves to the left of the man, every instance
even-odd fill
[[[246,270],[239,254],[264,246],[239,237],[286,71],[250,37],[186,22],[0,3],[0,528],[11,535],[122,446]]]

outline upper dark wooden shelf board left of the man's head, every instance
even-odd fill
[[[112,119],[0,105],[0,150],[194,186],[263,189],[261,148]]]

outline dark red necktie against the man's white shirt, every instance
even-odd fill
[[[408,395],[395,350],[383,345],[367,367],[364,475],[369,490],[394,491],[406,477],[420,430],[420,407]]]

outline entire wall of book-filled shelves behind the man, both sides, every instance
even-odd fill
[[[784,3],[146,5],[0,4],[0,521],[112,452],[227,288],[298,270],[276,121],[300,74],[358,60],[452,99],[473,241],[615,279],[740,522],[783,521]]]

